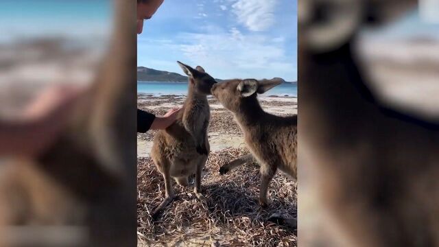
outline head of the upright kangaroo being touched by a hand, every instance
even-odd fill
[[[178,61],[177,61],[178,62]],[[211,75],[206,73],[201,66],[195,69],[182,62],[178,62],[181,69],[189,78],[189,88],[193,89],[194,93],[201,95],[210,95],[213,84],[217,83]]]

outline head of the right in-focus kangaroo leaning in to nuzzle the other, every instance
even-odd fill
[[[211,92],[226,109],[236,113],[246,102],[256,100],[257,93],[265,93],[282,82],[281,78],[228,80],[213,85]]]

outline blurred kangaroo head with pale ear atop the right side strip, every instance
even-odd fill
[[[401,16],[416,0],[299,0],[300,49],[333,51],[350,42],[362,25],[381,25]]]

